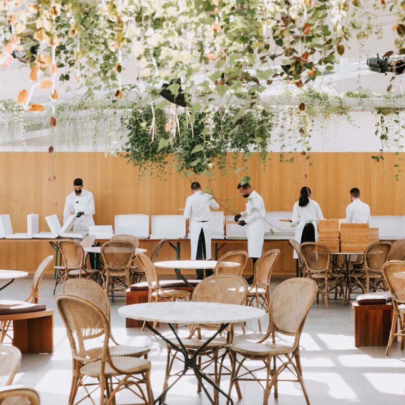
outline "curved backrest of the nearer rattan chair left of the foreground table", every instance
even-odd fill
[[[109,325],[103,311],[89,300],[70,294],[59,294],[56,306],[66,327],[73,358],[79,361],[105,360]],[[103,345],[94,349],[100,338]]]

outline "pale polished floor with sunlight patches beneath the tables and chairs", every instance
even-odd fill
[[[19,279],[3,290],[4,299],[24,299],[29,292],[30,279]],[[272,290],[280,278],[273,277]],[[41,302],[55,307],[52,295],[53,280],[45,276],[41,285]],[[60,287],[58,288],[60,292]],[[115,338],[121,344],[151,345],[149,359],[152,362],[152,388],[155,397],[161,392],[166,365],[166,344],[154,338],[149,332],[140,329],[126,329],[125,320],[117,309],[125,305],[124,298],[116,298],[111,304],[111,323]],[[162,328],[167,335],[168,329]],[[185,333],[185,332],[184,332]],[[238,333],[240,335],[240,331]],[[257,322],[248,325],[248,335],[252,340],[260,338]],[[394,343],[389,356],[384,355],[384,347],[354,347],[353,311],[344,307],[342,301],[330,302],[325,310],[314,303],[309,312],[301,338],[301,358],[303,376],[312,405],[334,405],[360,403],[368,405],[405,403],[405,352]],[[246,338],[246,337],[245,337]],[[41,395],[41,403],[46,405],[67,404],[71,378],[71,352],[65,328],[57,311],[55,312],[55,353],[23,355],[22,365],[15,383],[34,387]],[[236,339],[244,339],[238,336]],[[180,365],[177,365],[180,369]],[[227,390],[228,378],[224,377],[221,386]],[[261,404],[263,392],[256,382],[241,384],[243,399],[232,394],[235,405]],[[298,383],[280,382],[279,397],[269,403],[279,405],[305,404]],[[79,395],[79,394],[78,394]],[[97,402],[97,393],[94,395]],[[132,396],[122,394],[119,403],[134,403]],[[132,402],[131,402],[132,400]],[[135,401],[137,402],[137,401]],[[86,400],[83,404],[91,403]],[[173,405],[209,404],[204,394],[197,394],[196,379],[186,376],[174,386],[167,396],[167,403]],[[221,398],[221,403],[225,400]]]

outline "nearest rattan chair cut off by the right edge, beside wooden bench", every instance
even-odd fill
[[[401,337],[401,350],[403,350],[405,345],[405,262],[399,260],[386,262],[382,266],[382,273],[391,293],[394,310],[391,331],[385,351],[385,355],[388,356],[392,342],[398,336]],[[397,328],[398,321],[399,328]]]

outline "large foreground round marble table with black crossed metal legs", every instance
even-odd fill
[[[195,268],[195,267],[194,267]],[[167,392],[176,384],[179,379],[184,376],[187,370],[192,369],[199,383],[204,389],[204,392],[209,397],[211,403],[214,403],[207,389],[204,387],[202,379],[211,384],[217,391],[224,395],[233,405],[232,398],[220,389],[212,379],[206,376],[205,373],[198,370],[198,355],[216,336],[218,336],[230,323],[245,322],[252,319],[258,319],[266,315],[262,309],[248,307],[245,305],[220,304],[216,302],[152,302],[144,304],[132,304],[120,307],[118,313],[126,318],[138,319],[146,321],[146,326],[155,335],[162,338],[166,343],[179,351],[184,356],[184,370],[182,374],[155,400],[155,403],[161,403]],[[152,325],[150,324],[152,323]],[[218,331],[210,336],[204,343],[189,354],[181,345],[176,345],[167,337],[163,336],[153,328],[153,322],[168,323],[170,329],[174,333],[177,342],[181,339],[177,335],[174,325],[179,323],[200,323],[204,325],[221,325]]]

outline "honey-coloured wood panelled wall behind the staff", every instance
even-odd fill
[[[14,232],[26,232],[26,215],[39,214],[40,230],[47,231],[45,216],[56,213],[62,220],[65,197],[72,191],[76,177],[83,178],[84,187],[94,194],[95,221],[99,225],[113,224],[116,214],[181,214],[178,209],[184,208],[193,180],[199,181],[203,189],[210,186],[224,211],[233,213],[244,208],[246,201],[237,195],[236,184],[242,175],[249,174],[267,211],[291,211],[300,188],[307,185],[325,217],[345,215],[351,187],[360,188],[372,215],[403,215],[405,179],[395,181],[392,175],[394,164],[405,154],[386,153],[381,164],[370,158],[372,154],[318,152],[307,160],[297,153],[292,155],[293,163],[282,163],[278,153],[269,153],[265,169],[253,156],[247,162],[247,170],[237,174],[230,170],[227,175],[188,179],[170,168],[161,180],[139,180],[137,169],[127,165],[126,159],[105,157],[102,152],[1,152],[0,214],[10,214]],[[267,243],[265,250],[275,247]],[[229,247],[233,248],[240,245]],[[51,253],[47,242],[0,240],[0,268],[32,270]],[[295,273],[290,254],[289,248],[284,247],[286,257],[277,267]],[[164,251],[165,256],[175,257],[170,248]],[[182,258],[188,257],[189,249],[183,249]]]

